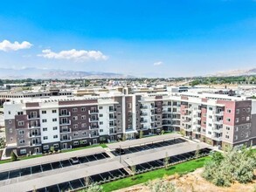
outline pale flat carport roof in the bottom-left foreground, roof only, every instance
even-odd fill
[[[98,165],[77,168],[72,171],[59,173],[55,175],[46,175],[36,179],[17,182],[0,187],[0,191],[20,192],[41,189],[61,182],[70,182],[90,175],[97,175],[114,169],[123,168],[124,166],[119,161],[104,162]]]

